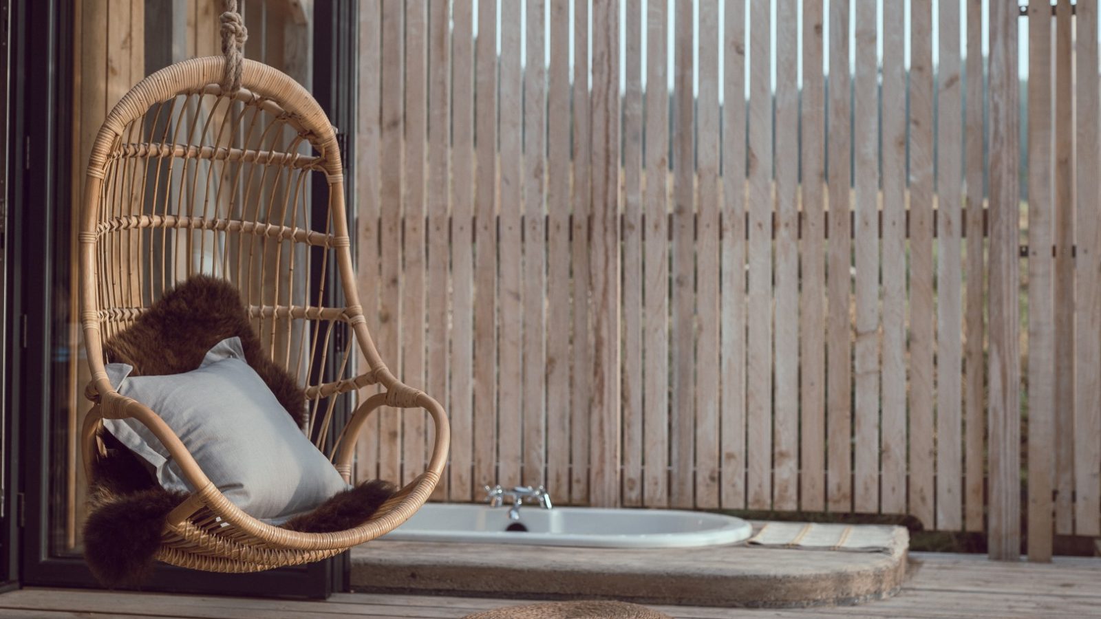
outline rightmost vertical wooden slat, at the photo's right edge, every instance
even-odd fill
[[[1101,406],[1098,405],[1101,402],[1101,225],[1098,224],[1098,216],[1101,215],[1101,199],[1098,198],[1098,165],[1101,161],[1099,160],[1101,153],[1098,152],[1098,122],[1101,121],[1101,118],[1099,118],[1098,111],[1097,20],[1097,3],[1079,3],[1076,20],[1078,48],[1075,54],[1078,62],[1075,72],[1078,79],[1076,86],[1078,116],[1075,119],[1078,127],[1078,210],[1075,220],[1077,239],[1075,263],[1075,533],[1088,536],[1101,535]],[[1009,46],[1006,45],[1006,47]],[[1006,62],[1016,58],[1016,55],[1009,50],[1006,54]],[[993,69],[991,75],[993,75]],[[1015,80],[1011,82],[1016,84]],[[993,86],[991,88],[993,89]],[[993,169],[993,163],[991,163],[991,167]],[[1016,171],[1016,166],[1013,166],[1012,170]],[[991,203],[993,203],[993,198]],[[1009,224],[1005,226],[1007,231]],[[991,292],[991,301],[993,302],[993,292]],[[993,338],[993,327],[991,328],[991,338]],[[1006,406],[1005,410],[1011,409]],[[1006,430],[1007,441],[1013,436],[1016,425],[1011,424]],[[1011,459],[1007,464],[1015,464],[1015,461]],[[1006,481],[1009,481],[1007,474]]]

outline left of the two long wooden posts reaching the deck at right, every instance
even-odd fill
[[[1093,75],[1082,66],[1078,73],[1079,127],[1097,126],[1097,34],[1087,25],[1095,13],[1083,3],[1079,7],[1078,58],[1093,50]],[[1020,344],[1017,340],[1017,202],[1020,140],[1017,93],[1017,7],[1011,2],[990,3],[990,557],[1012,561],[1021,554],[1021,384]],[[1095,17],[1094,17],[1095,19]],[[1092,89],[1089,84],[1092,83]],[[1093,113],[1087,111],[1092,105]],[[1092,122],[1090,119],[1092,118]],[[1089,133],[1089,131],[1087,131]],[[1093,142],[1094,146],[1097,142]],[[1090,150],[1080,144],[1079,161],[1090,161]],[[1094,167],[1084,178],[1097,178]],[[1083,181],[1079,174],[1080,182]],[[1084,181],[1089,183],[1089,181]],[[1095,187],[1095,185],[1094,185]],[[1093,195],[1091,192],[1087,194]],[[1079,192],[1079,196],[1082,192]],[[1081,260],[1081,248],[1079,248]],[[1081,334],[1079,334],[1081,335]],[[1079,337],[1079,340],[1081,338]],[[1079,349],[1080,350],[1080,349]],[[1081,357],[1079,357],[1079,361]],[[1097,367],[1097,366],[1094,366]],[[1080,402],[1081,400],[1079,400]],[[1091,400],[1095,403],[1097,398]],[[1092,404],[1091,404],[1092,405]],[[1077,454],[1076,454],[1077,455]],[[1099,459],[1101,461],[1101,459]],[[1079,500],[1082,496],[1079,495]],[[1094,512],[1095,517],[1095,512]]]

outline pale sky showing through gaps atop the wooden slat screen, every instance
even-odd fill
[[[482,1],[482,2],[484,2],[484,1],[495,1],[497,4],[498,4],[498,15],[499,15],[498,19],[500,20],[500,6],[501,6],[501,2],[511,2],[511,1],[521,1],[521,0],[473,0],[473,1],[475,1],[475,11],[476,11],[475,14],[476,15],[477,15],[477,10],[478,10],[478,3],[480,1]],[[586,2],[589,3],[590,7],[591,7],[591,3],[592,3],[592,0],[576,0],[576,1],[586,1]],[[645,15],[647,7],[648,7],[648,3],[651,1],[663,1],[663,2],[667,2],[668,3],[668,6],[666,8],[666,14],[669,15],[669,24],[668,24],[668,28],[666,29],[667,30],[667,34],[668,34],[668,41],[667,41],[667,47],[666,47],[668,50],[668,59],[667,59],[668,65],[667,66],[669,66],[669,67],[674,66],[674,33],[675,33],[675,28],[676,28],[676,20],[677,20],[677,18],[682,17],[682,15],[677,14],[677,11],[675,10],[675,4],[676,4],[675,0],[637,0],[637,1],[641,4],[641,10],[643,11],[643,15]],[[745,13],[746,13],[746,30],[745,30],[745,32],[746,32],[746,40],[748,40],[748,34],[749,34],[749,13],[750,13],[749,2],[752,2],[752,1],[754,1],[754,0],[746,0],[746,10],[745,10]],[[909,14],[911,14],[911,0],[850,0],[850,10],[849,10],[849,13],[850,13],[850,15],[849,15],[849,19],[850,19],[850,22],[849,22],[850,50],[852,48],[852,46],[854,46],[854,42],[852,41],[852,37],[855,35],[855,7],[860,2],[873,2],[873,1],[876,3],[876,15],[877,15],[877,22],[879,22],[879,29],[877,29],[877,32],[876,32],[876,52],[877,52],[877,56],[880,58],[882,58],[883,57],[883,19],[882,19],[883,18],[883,2],[884,1],[887,1],[887,2],[903,2],[905,4],[904,12],[905,12],[905,15],[906,15],[906,31],[908,33],[908,31],[909,31]],[[956,0],[952,0],[952,1],[956,1]],[[966,6],[964,6],[966,0],[958,0],[958,1],[960,3],[960,15],[964,15],[962,18],[962,22],[963,23],[960,24],[960,50],[961,50],[962,57],[966,58],[967,57],[967,24],[966,24],[967,9],[966,9]],[[1016,0],[995,0],[995,1],[1016,1]],[[797,0],[797,2],[798,2],[798,12],[802,14],[802,12],[803,12],[803,0]],[[830,36],[830,34],[829,34],[829,19],[828,19],[828,15],[829,15],[829,3],[830,3],[830,0],[824,0],[824,2],[825,2],[824,14],[827,15],[827,19],[825,20],[826,21],[826,24],[825,24],[826,31],[824,32],[824,40],[827,41],[827,45],[826,45],[826,50],[825,50],[825,54],[824,54],[825,57],[822,59],[822,62],[824,62],[822,72],[824,72],[824,74],[828,75],[829,74],[829,68],[828,68],[829,67],[829,45],[828,45],[828,42],[829,42],[829,36]],[[526,4],[527,3],[524,2],[523,14],[521,17],[522,23],[526,23],[526,19],[527,19],[526,18],[526,11],[527,11]],[[626,17],[625,17],[626,15],[626,4],[628,4],[626,1],[620,3],[620,29],[621,29],[620,30],[620,32],[621,32],[621,35],[620,35],[620,87],[621,88],[625,88],[625,85],[626,85],[626,75],[625,75],[626,63],[624,62],[624,57],[626,55],[626,43],[625,43],[625,37],[622,34],[623,33],[623,29],[626,25]],[[720,41],[720,44],[721,44],[721,41],[722,41],[722,39],[724,36],[724,32],[723,32],[724,31],[724,28],[723,28],[723,22],[724,22],[724,18],[723,18],[724,4],[726,3],[722,2],[721,0],[719,1],[719,15],[720,15],[720,18],[719,18],[719,41]],[[934,2],[933,2],[933,24],[934,24],[933,63],[934,63],[934,65],[936,65],[938,63],[938,35],[939,35],[939,33],[937,32],[938,31],[937,24],[938,24],[938,20],[939,20],[939,17],[938,17],[939,15],[938,4],[939,4],[939,2],[937,2],[936,0],[934,0]],[[547,7],[547,12],[549,13],[549,1],[546,2],[546,7]],[[691,17],[691,19],[693,19],[693,32],[694,32],[694,41],[695,41],[697,39],[697,36],[698,36],[698,26],[699,26],[699,23],[698,23],[698,21],[699,21],[698,11],[699,11],[699,9],[698,9],[698,6],[695,2],[693,3],[693,7],[694,8],[693,8],[693,17]],[[982,0],[982,7],[983,7],[982,8],[983,14],[984,15],[989,14],[990,0]],[[589,11],[590,19],[591,19],[591,14],[592,14],[592,11],[590,9],[590,11]],[[770,36],[770,39],[772,41],[772,55],[773,55],[773,59],[775,59],[775,56],[776,56],[776,17],[777,17],[776,15],[776,3],[774,2],[772,4],[772,20],[771,20],[772,33],[771,33],[771,36]],[[573,2],[570,3],[570,18],[569,19],[570,19],[570,23],[573,23],[574,22],[574,4],[573,4]],[[800,23],[799,23],[799,26],[798,26],[798,39],[799,39],[800,44],[799,44],[799,51],[798,51],[798,57],[799,57],[798,75],[802,76],[803,75],[803,51],[802,51],[803,24],[802,24],[802,20],[799,20],[799,21],[800,21]],[[477,34],[478,20],[475,19],[473,22],[475,22],[473,23],[475,33]],[[549,45],[549,41],[550,41],[550,24],[549,24],[549,20],[548,19],[544,19],[544,23],[546,23],[546,32],[544,33],[544,41],[546,42],[547,45]],[[643,47],[642,66],[645,67],[646,66],[646,64],[645,64],[646,63],[645,48],[647,46],[646,45],[647,41],[646,41],[645,19],[642,20],[642,23],[643,23],[643,30],[642,30],[642,47]],[[1018,28],[1018,52],[1017,52],[1018,72],[1020,72],[1020,75],[1021,75],[1022,79],[1024,79],[1028,75],[1028,20],[1026,20],[1026,19],[1018,20],[1017,28]],[[983,54],[985,54],[988,52],[989,46],[990,46],[989,36],[990,36],[989,29],[986,28],[986,24],[983,24],[983,32],[982,32],[982,39],[983,39],[983,41],[982,41],[982,50],[983,50]],[[592,41],[590,39],[589,40],[590,57],[591,57],[591,45],[592,45]],[[904,40],[904,45],[905,45],[905,50],[904,50],[905,64],[906,64],[907,67],[909,67],[911,41],[909,41],[909,36],[908,35]],[[573,28],[570,29],[570,43],[569,43],[569,47],[570,47],[570,51],[569,51],[570,67],[573,67],[573,65],[574,65],[574,32],[573,32]],[[696,44],[694,44],[693,47],[694,47],[694,62],[693,62],[693,66],[698,66],[699,47]],[[500,53],[500,51],[501,51],[501,23],[500,23],[500,21],[498,21],[497,48],[498,48],[498,52]],[[521,62],[523,62],[523,58],[526,58],[526,48],[527,48],[526,36],[522,36],[522,42],[521,42],[521,58],[522,58],[522,61]],[[752,58],[748,57],[746,62],[752,62]],[[850,70],[854,69],[854,63],[855,63],[854,55],[852,53],[850,53],[849,54]],[[776,84],[775,62],[772,63],[772,67],[773,67],[772,84],[773,84],[773,87],[775,87],[775,84]],[[719,75],[722,75],[722,72],[723,72],[722,54],[719,54]],[[645,87],[645,79],[646,79],[645,73],[646,73],[645,69],[643,69],[643,72],[642,72],[643,87]],[[669,80],[668,87],[672,89],[673,88],[674,72],[673,70],[667,70],[666,73],[668,75],[668,80]],[[573,69],[570,70],[570,74],[573,74]],[[695,80],[696,80],[695,86],[696,86],[696,89],[698,90],[698,87],[699,87],[698,76],[696,76]],[[745,82],[746,82],[745,83],[745,89],[746,89],[746,94],[748,94],[749,93],[749,72],[746,72]],[[802,85],[802,77],[799,78],[799,82],[800,82],[800,85]],[[722,97],[722,90],[723,90],[722,88],[719,89],[720,100],[721,100],[721,97]]]

